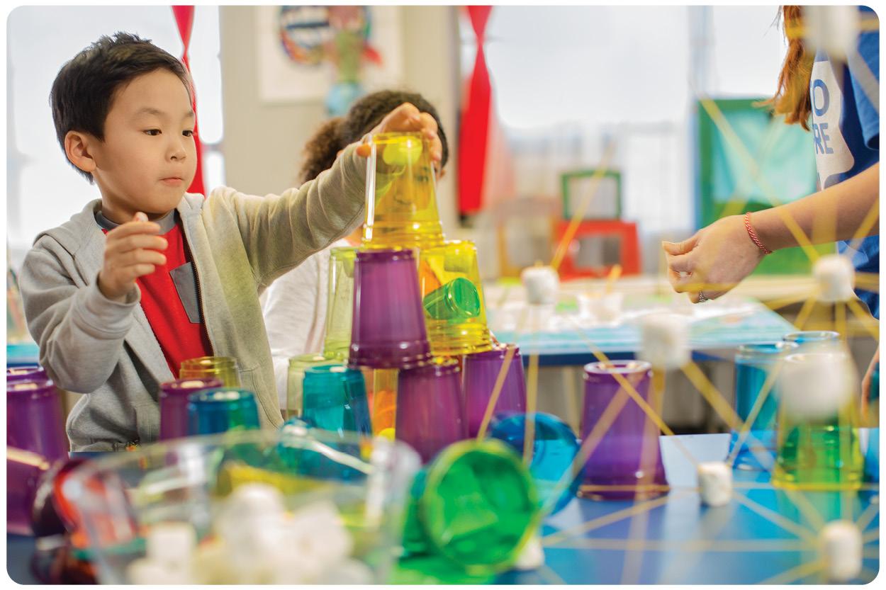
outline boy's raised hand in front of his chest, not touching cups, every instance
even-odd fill
[[[124,301],[139,276],[150,275],[156,265],[166,264],[167,241],[159,237],[160,226],[136,213],[132,221],[112,229],[105,237],[105,264],[98,273],[98,290],[106,298]]]

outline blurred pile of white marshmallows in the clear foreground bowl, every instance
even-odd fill
[[[350,557],[354,541],[335,505],[315,501],[294,512],[265,484],[239,485],[224,501],[214,535],[199,545],[190,523],[161,523],[146,556],[128,566],[131,584],[372,584]]]

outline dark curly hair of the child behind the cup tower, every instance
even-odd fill
[[[323,123],[305,145],[305,162],[299,171],[299,182],[314,180],[323,170],[332,167],[339,150],[365,136],[387,113],[403,103],[416,105],[419,111],[430,114],[437,121],[437,135],[443,145],[440,168],[446,166],[449,145],[437,109],[417,92],[379,90],[355,102],[345,117],[336,117]]]

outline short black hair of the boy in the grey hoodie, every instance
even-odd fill
[[[105,119],[114,94],[133,79],[165,69],[176,76],[193,97],[190,74],[182,61],[137,35],[102,35],[68,61],[52,82],[52,121],[61,149],[68,131],[82,131],[105,140]],[[71,164],[74,166],[74,164]],[[92,182],[92,175],[75,167]]]

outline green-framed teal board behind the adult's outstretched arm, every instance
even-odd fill
[[[758,106],[764,98],[716,98],[713,102],[735,134],[757,159],[760,174],[778,193],[781,203],[812,194],[816,187],[812,135],[799,125],[770,125],[772,114]],[[703,228],[727,211],[734,214],[761,211],[772,206],[757,181],[741,187],[742,175],[750,171],[741,156],[732,152],[700,102],[696,103],[696,221]],[[779,117],[779,119],[783,119]],[[766,156],[761,158],[761,156]],[[789,172],[786,172],[789,171]],[[737,189],[742,188],[742,194]],[[738,207],[738,204],[744,203]],[[814,246],[821,254],[836,251],[834,244]],[[786,248],[766,256],[754,271],[761,275],[807,274],[812,263],[802,248]]]

